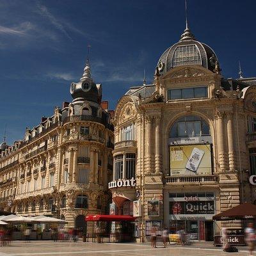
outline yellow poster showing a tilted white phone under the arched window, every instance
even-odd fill
[[[170,146],[170,175],[209,175],[211,173],[211,145]]]

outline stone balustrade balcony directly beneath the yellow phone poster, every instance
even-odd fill
[[[165,177],[164,178],[166,184],[217,184],[218,176],[188,176],[188,177]]]

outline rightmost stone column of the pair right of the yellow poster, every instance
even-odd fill
[[[229,169],[234,171],[236,169],[236,157],[234,150],[234,136],[233,136],[233,113],[227,113],[227,135],[228,135],[228,162]]]

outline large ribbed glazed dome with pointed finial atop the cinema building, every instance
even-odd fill
[[[160,74],[165,74],[172,68],[184,65],[202,65],[212,72],[220,71],[214,51],[208,45],[198,42],[188,26],[180,36],[179,42],[164,51],[157,68]]]

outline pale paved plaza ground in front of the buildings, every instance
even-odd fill
[[[92,256],[110,256],[110,255],[140,255],[140,256],[218,256],[218,255],[248,255],[246,247],[239,248],[238,253],[223,252],[221,248],[216,248],[210,243],[195,243],[191,246],[172,245],[169,248],[163,248],[159,243],[158,248],[151,248],[150,244],[135,243],[70,243],[53,241],[31,241],[24,243],[23,241],[15,241],[11,246],[0,248],[0,256],[11,255],[92,255]],[[254,254],[256,255],[256,253]]]

